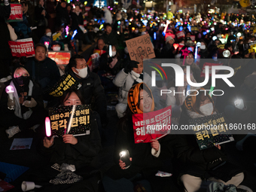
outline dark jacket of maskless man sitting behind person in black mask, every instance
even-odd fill
[[[33,63],[35,63],[35,82],[37,82],[43,90],[53,87],[59,81],[60,74],[56,62],[46,57],[43,61],[38,62],[35,58],[29,59],[25,68],[33,79]]]

